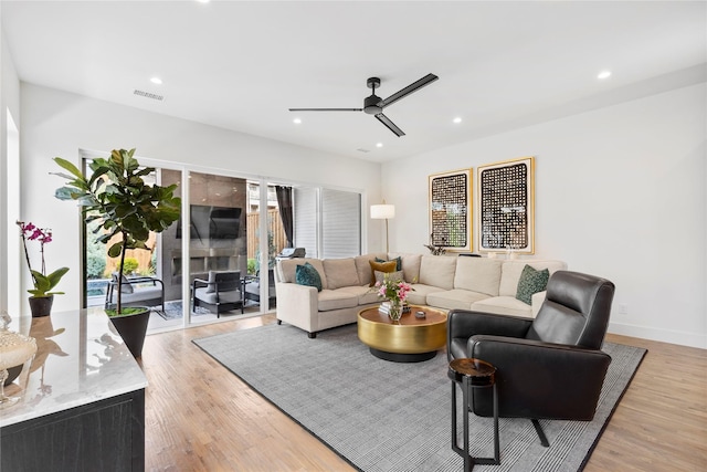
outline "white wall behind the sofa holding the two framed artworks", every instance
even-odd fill
[[[610,332],[705,348],[706,98],[699,84],[387,162],[391,248],[426,252],[430,174],[535,156],[535,256],[614,282]]]

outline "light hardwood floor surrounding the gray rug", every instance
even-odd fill
[[[266,315],[147,337],[148,471],[354,470],[191,343],[274,322]],[[648,354],[584,471],[707,471],[707,350],[608,340]]]

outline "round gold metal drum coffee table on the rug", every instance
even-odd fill
[[[424,312],[424,318],[415,317]],[[395,363],[432,359],[446,344],[446,313],[429,306],[411,305],[410,312],[393,323],[378,306],[358,313],[358,338],[373,356]]]

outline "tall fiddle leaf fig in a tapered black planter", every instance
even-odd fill
[[[60,200],[75,200],[82,207],[86,223],[97,221],[97,241],[117,242],[108,248],[108,255],[119,256],[117,305],[106,310],[114,326],[135,357],[140,357],[149,308],[124,307],[122,301],[125,254],[128,249],[145,249],[150,232],[161,232],[179,219],[181,199],[173,196],[177,185],[161,187],[143,179],[155,171],[140,167],[133,157],[135,149],[114,149],[108,159],[95,158],[89,165],[91,176],[84,176],[72,162],[55,157],[54,161],[68,174],[54,172],[67,180],[56,189]]]

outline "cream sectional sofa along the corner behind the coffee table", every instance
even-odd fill
[[[357,322],[358,312],[382,300],[370,290],[370,261],[400,258],[403,279],[414,289],[408,302],[443,310],[466,308],[487,313],[534,317],[545,292],[528,305],[516,298],[526,264],[550,274],[567,269],[561,261],[489,259],[457,255],[378,253],[346,259],[289,259],[277,262],[277,322],[297,326],[316,337],[317,332]],[[312,264],[323,290],[296,283],[296,266]]]

